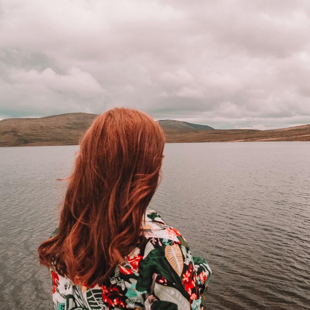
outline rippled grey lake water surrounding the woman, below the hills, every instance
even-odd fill
[[[77,146],[0,148],[0,305],[52,309],[36,249]],[[207,309],[310,309],[310,143],[166,144],[151,207],[213,275]]]

